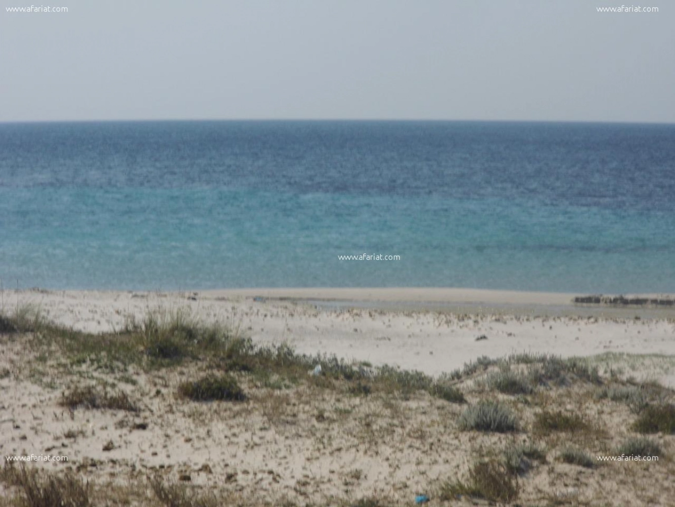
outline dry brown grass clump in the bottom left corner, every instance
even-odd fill
[[[88,507],[90,488],[72,473],[59,476],[39,473],[25,466],[15,468],[5,465],[0,479],[7,485],[18,487],[18,505],[22,507]]]

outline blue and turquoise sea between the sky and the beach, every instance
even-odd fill
[[[675,125],[0,124],[0,281],[675,293]]]

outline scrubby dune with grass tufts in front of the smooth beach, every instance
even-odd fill
[[[70,411],[54,415],[55,439],[68,442],[63,450],[101,433],[103,452],[117,456],[128,435],[166,435],[171,442],[179,431],[186,445],[202,441],[213,447],[218,431],[227,437],[219,437],[220,445],[234,445],[228,448],[234,454],[265,449],[270,456],[288,456],[297,449],[308,463],[350,463],[335,465],[325,476],[305,472],[292,480],[283,477],[281,458],[274,458],[274,465],[263,460],[257,475],[213,461],[200,468],[153,465],[140,472],[134,468],[122,483],[109,481],[109,474],[124,468],[118,458],[111,458],[114,465],[91,458],[74,463],[70,471],[5,464],[0,487],[9,500],[0,500],[3,507],[95,505],[101,498],[109,505],[178,507],[223,502],[402,506],[416,493],[441,505],[461,498],[535,505],[562,501],[542,493],[538,481],[547,477],[576,484],[579,476],[570,470],[578,467],[593,474],[593,481],[575,487],[586,491],[586,504],[594,504],[603,498],[605,483],[625,494],[640,487],[639,481],[626,481],[621,468],[616,477],[607,475],[614,465],[598,466],[596,455],[659,456],[659,468],[633,468],[643,481],[675,473],[669,457],[675,446],[673,391],[602,375],[593,360],[483,356],[431,377],[395,366],[298,354],[286,344],[260,345],[232,322],[200,322],[188,312],[151,313],[102,334],[57,326],[34,310],[5,314],[0,322],[0,341],[14,345],[20,358],[4,366],[7,375],[0,381],[29,382],[43,393],[55,393],[56,406]],[[22,372],[13,364],[30,367]],[[98,421],[95,427],[85,423],[92,418]],[[171,427],[177,418],[186,423]],[[246,432],[246,439],[238,440]],[[138,442],[146,439],[151,437]],[[281,444],[275,441],[294,445],[277,448]],[[163,456],[155,454],[155,460]],[[392,459],[401,462],[389,461],[391,473],[407,470],[416,483],[399,479],[396,489],[373,489],[367,463],[382,462],[383,456],[398,456]],[[93,475],[84,480],[84,470]],[[211,474],[213,483],[197,480]],[[322,488],[331,493],[317,493]],[[668,488],[662,494],[668,495]]]

